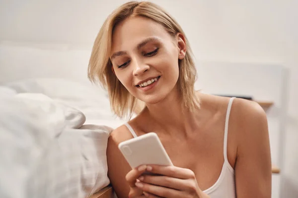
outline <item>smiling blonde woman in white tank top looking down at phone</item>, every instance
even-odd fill
[[[108,141],[108,176],[118,198],[271,197],[266,114],[253,101],[196,93],[189,43],[157,5],[128,2],[106,19],[88,76],[107,88],[119,117],[131,116],[137,100],[146,104]],[[174,166],[131,170],[118,144],[149,132]]]

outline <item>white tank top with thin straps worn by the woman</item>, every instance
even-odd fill
[[[235,189],[235,178],[234,178],[234,169],[231,167],[227,160],[226,148],[227,148],[227,131],[228,131],[228,120],[229,114],[234,98],[231,98],[227,105],[226,116],[225,116],[225,126],[224,126],[224,164],[222,172],[219,179],[215,184],[203,191],[208,194],[211,198],[236,198],[236,189]],[[125,123],[131,134],[137,137],[134,129],[128,124]]]

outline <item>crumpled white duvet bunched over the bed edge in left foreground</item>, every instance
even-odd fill
[[[109,184],[111,128],[66,127],[79,119],[41,94],[0,93],[0,109],[1,198],[85,198]]]

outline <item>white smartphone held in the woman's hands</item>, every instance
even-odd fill
[[[156,133],[151,132],[124,141],[118,148],[132,168],[143,164],[173,165]]]

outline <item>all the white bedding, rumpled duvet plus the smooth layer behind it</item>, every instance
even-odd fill
[[[64,79],[0,87],[0,197],[85,198],[109,184],[103,92]],[[112,128],[111,128],[112,127]]]

